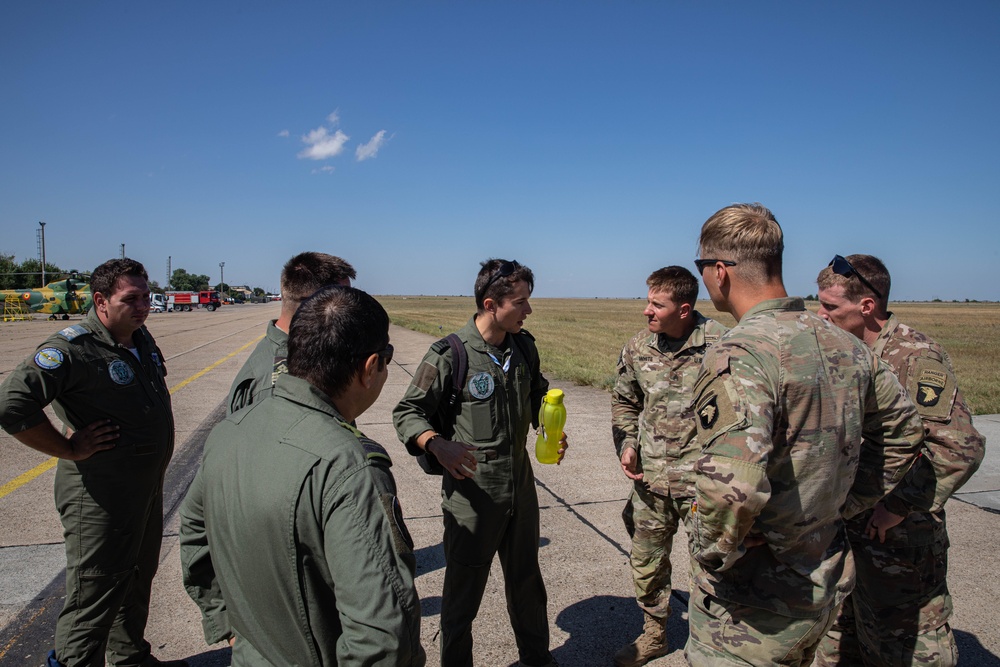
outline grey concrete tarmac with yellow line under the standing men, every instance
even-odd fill
[[[168,384],[177,421],[177,450],[168,470],[161,564],[154,582],[147,639],[161,659],[186,658],[192,667],[229,664],[224,645],[206,646],[200,615],[180,580],[176,508],[200,460],[201,446],[223,413],[226,391],[277,304],[225,307],[217,313],[151,315],[149,328],[167,359]],[[0,327],[0,379],[64,323]],[[368,436],[394,457],[393,473],[407,526],[416,543],[428,664],[437,664],[438,618],[444,575],[440,480],[425,475],[395,438],[391,409],[409,384],[434,337],[393,327],[396,352],[379,401],[358,419]],[[543,360],[544,361],[544,360]],[[541,507],[541,564],[549,594],[553,654],[563,667],[610,665],[611,656],[641,630],[628,572],[628,537],[621,510],[629,482],[611,443],[610,401],[604,391],[550,378],[566,392],[570,450],[559,466],[534,464]],[[1000,416],[976,425],[994,446]],[[30,481],[24,473],[46,457],[0,435],[0,667],[42,665],[52,646],[55,617],[64,595],[62,529],[52,502],[52,470]],[[16,488],[11,488],[17,484]],[[949,582],[955,599],[955,630],[963,666],[1000,665],[1000,628],[992,603],[1000,599],[1000,454],[987,447],[981,470],[948,505],[951,537]],[[248,548],[251,548],[248,545]],[[683,534],[675,539],[675,613],[668,622],[670,654],[649,663],[684,665],[687,638],[687,555]],[[477,667],[517,661],[504,603],[503,577],[495,563],[474,624]]]

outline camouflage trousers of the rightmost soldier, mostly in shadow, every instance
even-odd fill
[[[847,524],[857,580],[820,644],[816,665],[952,667],[958,649],[948,619],[948,531],[944,512],[914,513],[886,535],[864,535],[871,513]]]

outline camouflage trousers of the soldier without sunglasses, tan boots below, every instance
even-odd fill
[[[632,582],[643,611],[656,618],[670,613],[670,549],[677,526],[687,519],[691,498],[661,496],[636,483],[622,520],[632,538]],[[685,571],[689,575],[689,570]]]

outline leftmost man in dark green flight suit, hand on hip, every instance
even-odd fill
[[[144,638],[163,537],[163,476],[174,451],[167,370],[143,326],[148,279],[131,259],[94,269],[93,309],[50,336],[0,387],[3,429],[59,459],[66,602],[50,667],[100,667],[105,653],[117,667],[187,664],[157,660]],[[45,416],[49,403],[68,431]]]

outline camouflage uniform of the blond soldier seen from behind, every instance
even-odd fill
[[[841,513],[903,478],[923,435],[916,409],[861,341],[797,298],[750,309],[706,352],[695,396],[686,656],[808,664],[854,583]]]

